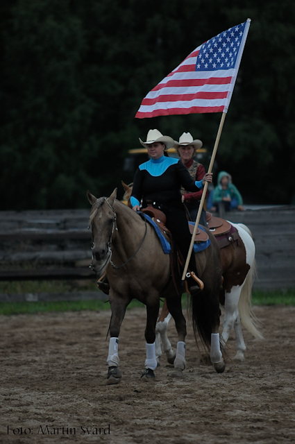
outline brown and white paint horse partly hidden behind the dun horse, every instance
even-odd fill
[[[130,185],[132,184],[126,185],[122,182],[122,185],[125,190],[124,199],[128,203],[132,191]],[[224,281],[219,291],[219,302],[225,309],[221,339],[225,345],[230,332],[235,329],[237,352],[234,359],[244,361],[246,345],[241,322],[255,338],[263,339],[257,327],[258,320],[255,318],[251,307],[253,278],[256,273],[255,244],[251,232],[246,225],[230,223],[237,228],[239,238],[233,245],[230,244],[220,250]],[[167,336],[167,326],[170,318],[171,314],[169,314],[165,302],[155,327],[155,354],[158,364],[160,364],[160,357],[162,355],[160,339],[162,340],[162,347],[167,361],[170,364],[174,361],[175,352]]]

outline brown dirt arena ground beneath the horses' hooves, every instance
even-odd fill
[[[116,386],[106,385],[110,311],[0,316],[0,443],[294,443],[295,307],[255,314],[265,341],[245,333],[243,363],[222,375],[200,364],[189,326],[183,378],[162,357],[146,383],[145,311],[127,311]],[[173,322],[169,336],[175,346]]]

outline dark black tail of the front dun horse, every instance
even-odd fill
[[[194,297],[189,296],[189,313],[196,343],[198,333],[204,348],[208,352],[210,352],[211,334],[216,332],[219,326],[220,309],[218,294],[217,289],[216,291],[211,290],[209,294],[206,291],[201,291],[201,293]]]

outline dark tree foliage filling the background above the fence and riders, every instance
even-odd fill
[[[246,201],[295,200],[292,2],[3,0],[0,12],[1,210],[86,207],[87,189],[120,190],[150,128],[189,131],[210,153],[221,114],[134,116],[190,51],[248,17],[218,169]]]

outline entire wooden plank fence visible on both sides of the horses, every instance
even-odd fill
[[[90,210],[0,212],[0,280],[95,280],[89,268],[89,214]],[[226,216],[244,223],[253,234],[258,264],[254,287],[295,288],[295,207]]]

